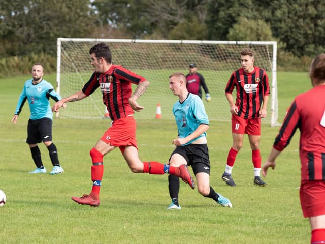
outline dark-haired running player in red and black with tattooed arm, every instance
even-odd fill
[[[91,65],[95,72],[83,88],[55,103],[52,110],[57,112],[64,103],[75,102],[90,96],[97,88],[101,88],[103,102],[107,106],[112,126],[104,133],[101,139],[90,150],[92,159],[91,180],[92,190],[89,195],[72,197],[77,203],[97,207],[100,204],[100,188],[103,178],[103,157],[110,151],[119,147],[129,168],[134,173],[164,174],[170,173],[181,177],[194,189],[194,180],[189,174],[186,165],[172,167],[155,161],[141,162],[138,155],[136,140],[136,121],[134,110],[140,112],[137,99],[145,92],[149,82],[122,66],[112,64],[111,51],[105,43],[94,45],[89,50]],[[132,94],[132,84],[138,85]]]

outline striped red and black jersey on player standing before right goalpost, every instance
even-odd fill
[[[235,87],[238,116],[259,117],[263,98],[270,95],[269,78],[265,70],[257,66],[251,73],[246,73],[243,68],[235,70],[225,87],[225,93],[231,94]]]

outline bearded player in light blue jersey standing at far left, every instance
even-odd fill
[[[24,103],[28,101],[30,117],[27,126],[27,139],[32,159],[36,164],[36,169],[29,173],[46,173],[41,158],[41,151],[37,143],[43,141],[49,150],[50,159],[53,169],[50,174],[63,173],[63,168],[60,166],[57,149],[52,142],[52,118],[53,113],[50,107],[49,98],[56,102],[61,100],[53,86],[43,79],[44,68],[41,64],[37,63],[31,70],[32,79],[27,80],[20,94],[15,115],[12,118],[14,124],[18,121],[18,116],[21,112]]]

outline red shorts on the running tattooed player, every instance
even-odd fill
[[[118,146],[123,154],[125,146],[138,149],[136,139],[137,123],[133,116],[113,121],[113,125],[105,131],[101,140],[112,146]]]

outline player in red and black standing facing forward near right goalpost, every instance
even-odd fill
[[[244,134],[248,134],[254,165],[254,185],[266,186],[261,179],[261,118],[267,116],[267,103],[270,95],[269,79],[262,68],[254,66],[254,52],[243,49],[240,52],[242,68],[235,70],[225,87],[225,96],[232,114],[233,146],[230,148],[222,179],[230,186],[236,186],[232,170],[238,151],[243,145]],[[236,87],[234,103],[232,92]]]

